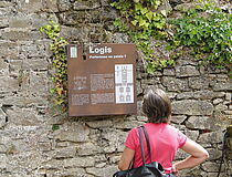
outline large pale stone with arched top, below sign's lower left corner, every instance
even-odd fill
[[[87,142],[89,129],[81,125],[78,123],[67,123],[61,127],[61,129],[56,131],[57,135],[55,135],[56,139],[60,140],[68,140],[68,142]]]

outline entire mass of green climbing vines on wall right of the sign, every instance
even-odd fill
[[[232,15],[215,8],[210,0],[205,2],[186,11],[182,18],[168,21],[168,12],[158,9],[161,0],[116,0],[112,7],[119,10],[120,18],[115,20],[114,25],[129,34],[143,51],[148,73],[175,65],[175,55],[164,60],[154,53],[150,39],[155,38],[168,41],[168,50],[192,48],[196,59],[220,69],[226,67],[231,75]],[[171,35],[166,32],[170,27],[175,27]]]

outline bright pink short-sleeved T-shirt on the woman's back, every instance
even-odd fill
[[[184,145],[187,136],[183,135],[179,129],[166,123],[148,123],[144,126],[149,136],[152,162],[160,163],[165,168],[166,173],[169,174],[171,171],[172,160],[175,158],[177,149]],[[146,140],[144,142],[144,144],[146,162],[150,163]],[[125,145],[135,150],[134,167],[141,166],[141,152],[139,146],[137,128],[133,128],[129,132]]]

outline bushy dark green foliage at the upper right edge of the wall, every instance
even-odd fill
[[[193,48],[204,64],[232,71],[232,14],[212,6],[198,7],[171,23],[177,27],[171,45]]]

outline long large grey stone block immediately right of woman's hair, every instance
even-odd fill
[[[173,114],[212,115],[213,105],[207,101],[184,100],[172,103]]]

